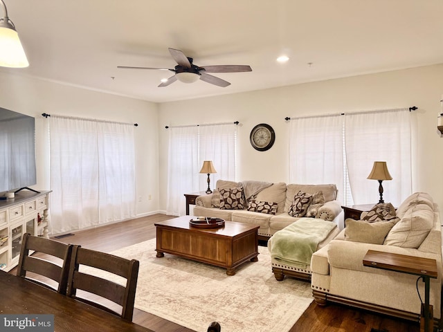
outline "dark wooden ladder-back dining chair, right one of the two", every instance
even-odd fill
[[[102,310],[119,315],[125,320],[132,321],[138,266],[139,262],[136,259],[129,260],[109,255],[105,252],[73,246],[71,266],[69,267],[67,295],[101,308]],[[125,282],[123,282],[125,285],[123,286],[109,280],[111,275],[101,273],[102,271],[100,270],[123,277],[126,279]],[[96,301],[96,297],[89,296],[89,294],[85,294],[84,296],[78,295],[77,290],[98,295],[98,301]],[[103,304],[103,301],[100,301],[100,297],[121,306],[121,314],[118,313],[117,310],[114,310],[115,306],[111,306],[113,307],[111,308]]]

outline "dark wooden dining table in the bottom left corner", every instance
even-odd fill
[[[22,314],[53,315],[52,331],[154,332],[24,277],[0,270],[0,317]]]

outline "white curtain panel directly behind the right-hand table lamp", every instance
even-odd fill
[[[355,204],[379,201],[379,182],[368,180],[374,161],[386,161],[392,181],[383,200],[398,206],[412,193],[411,116],[408,109],[346,114],[345,149]]]

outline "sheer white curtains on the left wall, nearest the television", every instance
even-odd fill
[[[136,215],[134,125],[51,116],[51,232]]]

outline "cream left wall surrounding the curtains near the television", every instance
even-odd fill
[[[0,107],[35,117],[37,190],[51,190],[47,124],[42,113],[138,123],[136,179],[138,215],[159,210],[158,104],[0,73]],[[152,200],[148,200],[148,196]]]

